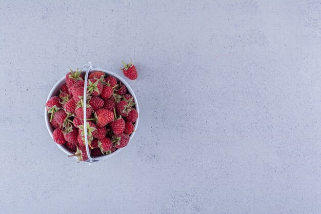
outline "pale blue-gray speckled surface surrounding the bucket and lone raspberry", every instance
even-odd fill
[[[0,2],[0,213],[321,212],[321,4],[54,2]],[[50,89],[130,57],[135,138],[66,157]]]

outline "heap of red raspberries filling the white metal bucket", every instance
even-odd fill
[[[84,107],[85,81],[81,71],[66,74],[57,96],[52,96],[46,106],[54,128],[53,140],[74,153],[79,161],[86,161],[85,131],[91,157],[108,155],[129,142],[138,118],[132,95],[113,76],[93,71],[88,76],[87,105]],[[86,108],[87,130],[84,128]]]

